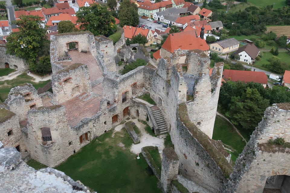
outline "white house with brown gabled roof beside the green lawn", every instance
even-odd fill
[[[240,61],[247,64],[253,64],[259,52],[259,49],[254,44],[247,44],[237,50],[237,54],[240,55]]]

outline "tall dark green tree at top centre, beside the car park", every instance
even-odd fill
[[[124,0],[119,9],[120,26],[137,26],[139,24],[138,8],[130,0]]]

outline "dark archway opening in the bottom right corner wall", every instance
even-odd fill
[[[276,175],[270,176],[266,180],[263,193],[289,193],[290,192],[290,176]]]

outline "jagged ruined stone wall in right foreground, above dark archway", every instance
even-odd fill
[[[290,104],[273,104],[239,155],[230,175],[226,192],[262,193],[270,176],[288,175],[290,149],[269,145],[269,139],[285,138],[290,142]]]

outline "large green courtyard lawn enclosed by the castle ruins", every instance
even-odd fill
[[[143,156],[140,154],[137,160],[130,152],[133,141],[126,130],[115,132],[114,137],[112,133],[107,131],[92,140],[55,169],[98,192],[161,193],[158,179],[146,173],[148,165]]]

